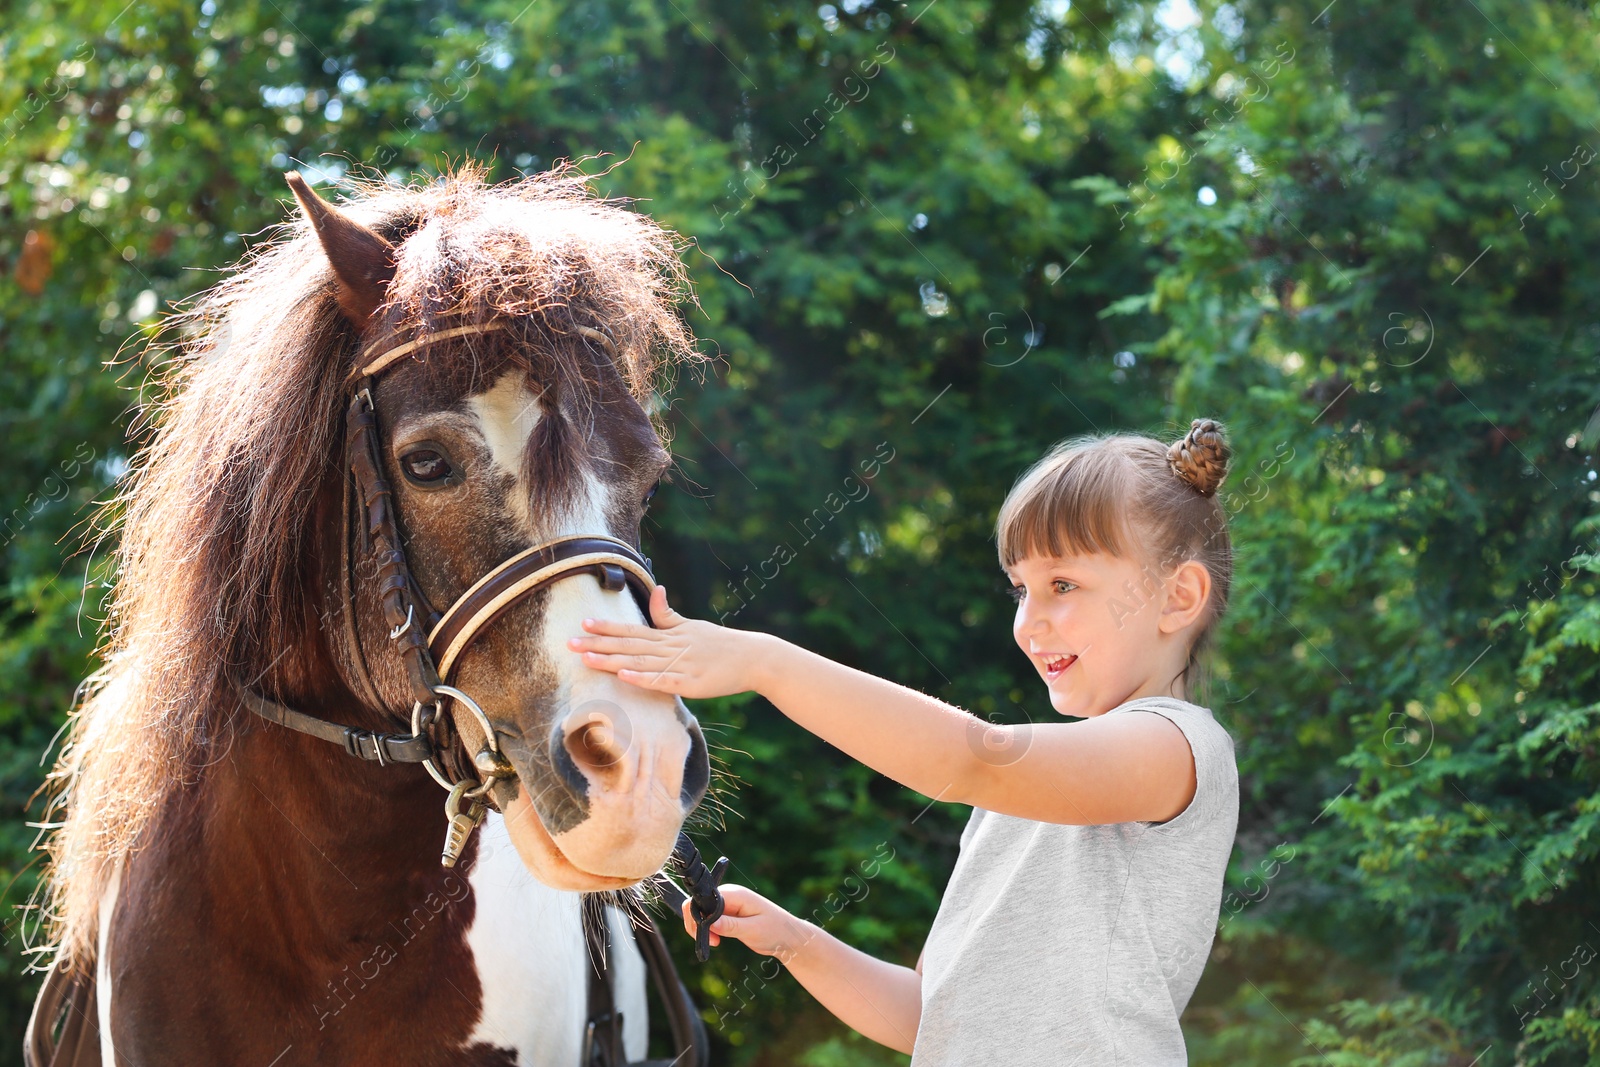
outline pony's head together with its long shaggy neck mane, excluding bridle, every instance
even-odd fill
[[[301,216],[285,240],[170,320],[176,354],[158,360],[114,506],[104,667],[53,773],[46,915],[69,965],[93,955],[110,870],[163,806],[242,733],[278,729],[240,709],[237,680],[328,720],[410,731],[414,678],[354,518],[368,501],[346,496],[344,416],[365,357],[432,338],[371,384],[376,461],[424,606],[445,609],[563,534],[637,547],[667,466],[653,389],[693,349],[675,310],[678,245],[651,219],[565,173],[371,182],[339,208],[291,186]],[[552,886],[605,889],[661,867],[709,773],[680,701],[565,648],[586,616],[643,619],[627,590],[566,577],[482,629],[450,681],[509,757],[515,789],[496,797],[526,865]],[[467,736],[458,705],[445,707]],[[414,766],[384,774],[426,781]]]

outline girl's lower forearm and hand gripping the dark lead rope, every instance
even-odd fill
[[[922,1021],[922,973],[851,949],[816,923],[790,915],[744,886],[722,886],[726,913],[710,925],[710,942],[736,937],[776,957],[818,1003],[878,1045],[910,1054]],[[694,936],[690,902],[683,929]],[[920,965],[920,960],[918,960]]]

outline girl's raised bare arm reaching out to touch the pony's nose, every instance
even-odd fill
[[[990,725],[925,693],[770,633],[685,619],[651,593],[659,629],[586,619],[584,662],[685,697],[754,689],[789,718],[902,785],[1000,814],[1098,825],[1163,822],[1194,797],[1189,741],[1154,712]]]

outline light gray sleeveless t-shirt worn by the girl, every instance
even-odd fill
[[[1234,739],[1197,704],[1195,795],[1166,822],[1062,825],[974,808],[923,953],[912,1067],[1179,1067],[1238,827]]]

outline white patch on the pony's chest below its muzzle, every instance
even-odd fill
[[[488,813],[478,833],[467,878],[477,902],[467,947],[483,987],[483,1014],[467,1041],[515,1049],[522,1067],[571,1067],[589,1014],[581,894],[552,889],[530,875],[499,813]],[[624,1013],[622,1043],[629,1059],[643,1059],[650,1040],[645,961],[616,913],[611,968]]]

